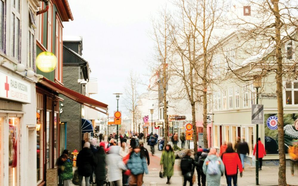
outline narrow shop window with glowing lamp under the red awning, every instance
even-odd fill
[[[36,175],[37,182],[42,179],[42,110],[36,111]]]

